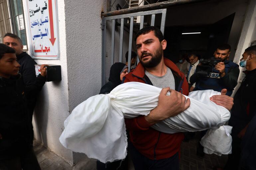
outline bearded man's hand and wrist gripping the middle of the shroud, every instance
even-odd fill
[[[168,91],[171,92],[170,96],[166,95]],[[145,119],[153,125],[164,119],[180,114],[189,108],[189,106],[189,98],[186,100],[185,96],[180,92],[170,90],[170,87],[163,88],[159,94],[157,107],[151,110],[149,115],[145,116]]]

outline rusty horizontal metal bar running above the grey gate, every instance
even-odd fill
[[[107,13],[102,13],[101,16],[109,17],[109,16],[115,16],[115,15],[130,14],[130,13],[135,13],[135,12],[149,11],[149,10],[155,10],[155,9],[164,9],[164,8],[168,8],[170,6],[191,4],[191,3],[203,2],[203,1],[210,1],[210,0],[165,1],[165,2],[155,3],[155,4],[143,5],[143,6],[139,6],[139,7],[132,7],[130,9],[123,9],[123,10],[118,10],[118,11],[111,11],[111,12],[107,12]]]

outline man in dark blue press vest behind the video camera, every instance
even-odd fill
[[[219,45],[214,52],[215,59],[221,59],[221,62],[212,66],[212,70],[207,76],[198,74],[200,63],[197,66],[196,71],[190,78],[191,83],[195,84],[195,90],[207,90],[213,89],[215,91],[221,91],[226,88],[227,94],[230,96],[234,87],[237,85],[237,79],[239,76],[239,67],[237,64],[228,60],[230,54],[230,45]]]

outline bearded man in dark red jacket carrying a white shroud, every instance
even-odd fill
[[[190,106],[190,100],[182,95],[189,94],[189,85],[178,67],[164,58],[163,50],[167,42],[159,28],[142,28],[136,34],[135,40],[140,62],[125,76],[124,83],[141,82],[163,89],[159,95],[158,106],[147,116],[125,119],[126,128],[130,132],[129,152],[134,168],[179,170],[183,133],[167,134],[150,126],[176,116]],[[171,92],[170,96],[166,95],[168,91]],[[212,101],[229,110],[233,105],[233,99],[226,95],[216,95]]]

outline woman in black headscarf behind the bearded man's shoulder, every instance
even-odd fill
[[[115,63],[110,68],[108,83],[103,85],[99,94],[110,93],[116,86],[122,83],[123,77],[128,74],[128,67],[124,63]],[[127,170],[127,158],[109,163],[97,161],[97,170]]]

